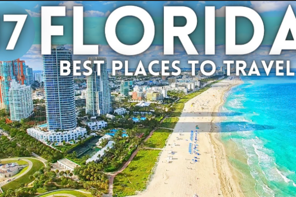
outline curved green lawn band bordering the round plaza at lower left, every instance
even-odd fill
[[[1,187],[3,191],[6,191],[8,189],[15,190],[17,188],[20,188],[22,183],[24,183],[24,184],[31,183],[33,180],[30,180],[29,176],[34,174],[37,170],[39,170],[41,167],[44,166],[44,164],[42,162],[40,162],[39,160],[28,159],[28,158],[26,158],[26,159],[30,160],[33,163],[33,167],[31,168],[31,170],[28,173],[24,174],[22,177],[14,180],[10,183],[7,183],[3,187]]]

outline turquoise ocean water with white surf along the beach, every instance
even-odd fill
[[[220,113],[241,189],[246,197],[296,197],[296,77],[241,79]]]

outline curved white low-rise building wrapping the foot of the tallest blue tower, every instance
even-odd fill
[[[83,137],[87,131],[85,128],[76,127],[74,130],[69,131],[42,131],[40,128],[30,128],[27,129],[27,133],[37,140],[44,142],[69,142],[71,140],[77,140],[78,137]]]

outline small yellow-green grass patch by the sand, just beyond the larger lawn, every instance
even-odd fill
[[[152,136],[145,142],[144,146],[149,148],[163,148],[171,132],[173,131],[167,129],[155,130]]]

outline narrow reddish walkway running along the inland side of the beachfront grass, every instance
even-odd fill
[[[165,118],[164,119],[162,119],[161,121],[160,121],[160,123],[159,124],[161,124],[163,121],[165,120]],[[155,130],[157,130],[158,128],[155,128],[155,129],[153,129],[152,131],[150,131],[150,133],[148,134],[148,136],[144,139],[144,141],[141,143],[141,144],[144,144],[151,136],[152,136],[152,134],[153,134],[153,132],[155,131]],[[113,196],[113,181],[114,181],[114,177],[117,175],[117,174],[119,174],[119,173],[121,173],[130,163],[131,163],[131,161],[134,159],[134,157],[137,155],[137,153],[139,152],[139,147],[140,146],[138,146],[138,148],[133,152],[133,154],[131,155],[131,157],[128,159],[128,161],[118,170],[118,171],[116,171],[116,172],[113,172],[113,173],[108,173],[108,175],[109,175],[109,197],[112,197]],[[107,196],[107,195],[106,195]]]

